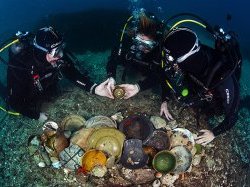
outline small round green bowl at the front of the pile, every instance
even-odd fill
[[[152,165],[156,171],[165,174],[174,170],[176,166],[176,158],[171,152],[163,150],[155,155]]]

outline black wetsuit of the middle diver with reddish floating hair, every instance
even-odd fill
[[[124,66],[123,81],[129,70],[141,73],[145,79],[139,81],[137,84],[140,90],[144,91],[157,85],[155,84],[158,82],[157,79],[160,80],[160,47],[157,46],[147,54],[140,53],[140,51],[134,50],[133,47],[132,38],[127,36],[124,39],[120,55],[118,55],[118,48],[112,50],[106,70],[108,77],[116,78],[117,66]]]

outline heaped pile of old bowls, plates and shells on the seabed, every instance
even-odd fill
[[[189,130],[176,127],[145,114],[117,113],[87,121],[69,115],[59,124],[46,122],[41,135],[30,137],[28,148],[39,167],[104,177],[119,164],[131,170],[153,168],[161,178],[190,171],[204,151]]]

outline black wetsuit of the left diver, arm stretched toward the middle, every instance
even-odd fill
[[[17,112],[38,119],[41,104],[55,95],[62,76],[86,91],[94,91],[96,84],[75,68],[67,53],[53,67],[45,59],[45,53],[33,46],[18,52],[13,47],[9,50],[7,89],[8,103]]]

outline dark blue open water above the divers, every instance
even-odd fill
[[[51,14],[82,12],[93,8],[127,11],[131,4],[128,0],[1,0],[0,41],[16,30],[31,29],[39,19],[46,19]],[[192,12],[204,17],[212,24],[233,29],[239,34],[244,55],[249,57],[250,24],[248,18],[250,17],[250,3],[246,0],[137,0],[137,4],[158,13],[162,18],[176,13]],[[226,21],[227,14],[232,16],[230,23]]]

